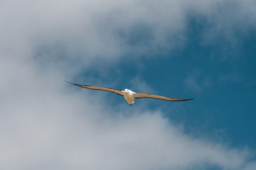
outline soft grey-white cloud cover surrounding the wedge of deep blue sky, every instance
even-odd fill
[[[233,40],[241,23],[255,28],[254,8],[254,1],[1,1],[0,168],[254,169],[249,152],[187,136],[160,111],[123,111],[63,82],[127,55],[164,56],[186,42],[190,14],[211,25],[204,42]]]

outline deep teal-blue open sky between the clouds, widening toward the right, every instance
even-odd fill
[[[214,40],[205,43],[204,30],[210,27],[205,22],[197,16],[189,18],[186,41],[182,47],[167,49],[164,54],[161,50],[148,54],[150,59],[147,54],[139,59],[127,55],[103,74],[99,73],[98,67],[91,68],[85,74],[81,73],[82,80],[75,80],[93,84],[95,81],[87,82],[88,77],[99,77],[102,86],[114,81],[117,89],[136,89],[130,81],[136,78],[157,94],[196,98],[194,101],[175,103],[182,107],[182,111],[175,113],[169,109],[174,103],[150,100],[148,107],[162,110],[164,116],[181,123],[187,133],[220,135],[220,140],[233,147],[246,145],[255,149],[255,30],[236,30],[232,40],[218,32]],[[128,38],[134,39],[129,45],[151,41],[148,36],[144,37],[143,29],[136,31],[132,35],[135,37]],[[113,98],[115,102],[120,100],[119,96]],[[139,104],[140,100],[137,100],[134,107],[139,107]]]

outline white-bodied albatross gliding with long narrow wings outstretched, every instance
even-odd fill
[[[66,81],[67,83],[70,83]],[[75,84],[75,83],[70,83],[79,87],[83,88],[89,88],[92,90],[102,90],[102,91],[110,91],[116,94],[119,94],[121,96],[124,96],[124,99],[127,101],[127,103],[132,106],[134,104],[135,99],[140,99],[140,98],[153,98],[153,99],[160,99],[160,100],[165,100],[165,101],[188,101],[192,99],[177,99],[177,98],[169,98],[161,95],[154,95],[154,94],[143,94],[143,93],[136,93],[133,92],[132,90],[129,89],[124,89],[122,91],[116,90],[113,88],[108,88],[108,87],[98,87],[98,86],[88,86],[88,85],[81,85],[81,84]]]

